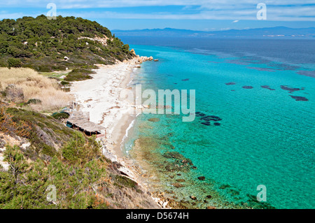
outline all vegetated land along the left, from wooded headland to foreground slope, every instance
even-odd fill
[[[0,21],[0,209],[157,208],[95,138],[60,121],[66,113],[43,114],[67,106],[62,85],[91,78],[94,64],[132,57],[97,22],[43,15]]]

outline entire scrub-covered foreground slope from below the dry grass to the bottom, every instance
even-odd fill
[[[0,131],[31,143],[6,146],[10,168],[0,165],[0,209],[156,207],[137,182],[121,175],[120,164],[102,155],[94,138],[52,117],[3,103],[0,108]]]

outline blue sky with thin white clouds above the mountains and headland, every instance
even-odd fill
[[[315,0],[0,0],[0,20],[52,15],[51,10],[111,30],[315,27]]]

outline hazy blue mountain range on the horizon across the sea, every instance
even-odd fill
[[[195,31],[189,29],[112,30],[116,36],[196,36],[216,38],[315,38],[315,28],[293,29],[272,27],[258,29],[230,29],[225,31]]]

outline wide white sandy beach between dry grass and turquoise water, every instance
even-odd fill
[[[116,65],[99,65],[90,80],[73,82],[71,93],[80,111],[90,114],[90,122],[106,128],[106,149],[121,157],[120,143],[134,119],[133,101],[120,99],[127,90],[137,59]]]

